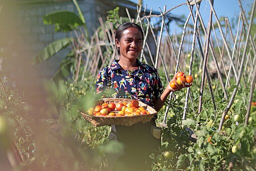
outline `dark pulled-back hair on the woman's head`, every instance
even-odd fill
[[[120,26],[118,26],[116,31],[115,31],[115,34],[114,34],[114,40],[117,39],[118,41],[120,41],[123,31],[128,29],[128,28],[131,28],[131,27],[137,28],[142,33],[142,40],[144,40],[144,35],[143,35],[142,28],[139,25],[135,24],[135,23],[123,23]],[[119,49],[117,49],[117,53],[118,53],[118,55],[120,55],[120,50]]]

